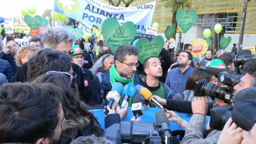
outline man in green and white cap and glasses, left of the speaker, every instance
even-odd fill
[[[77,45],[72,46],[71,51],[69,52],[73,63],[78,65],[79,67],[83,67],[84,53],[82,49],[80,49]],[[88,92],[91,81],[93,80],[93,74],[90,70],[86,68],[82,68],[83,76],[84,76],[84,93]],[[85,95],[82,95],[83,100],[85,100]]]

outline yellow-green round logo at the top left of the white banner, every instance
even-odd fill
[[[76,14],[79,11],[77,0],[55,0],[59,9],[68,14]]]

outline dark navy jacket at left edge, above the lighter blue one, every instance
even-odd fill
[[[14,73],[8,61],[0,59],[0,73],[6,76],[9,83],[12,82]]]

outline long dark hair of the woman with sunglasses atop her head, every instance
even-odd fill
[[[58,98],[62,99],[62,108],[67,120],[71,119],[77,122],[78,136],[86,136],[83,134],[84,125],[91,125],[94,131],[94,134],[98,136],[101,135],[100,124],[97,121],[97,118],[88,111],[89,106],[85,105],[81,100],[79,100],[79,94],[76,82],[73,81],[72,85],[69,86],[70,76],[66,74],[57,74],[57,73],[49,73],[44,74],[37,77],[33,83],[53,83],[62,88],[62,91],[65,92],[66,95],[59,95]],[[79,121],[79,119],[86,117],[90,121]],[[65,127],[64,125],[62,126]],[[73,128],[73,127],[72,127]],[[70,129],[70,127],[69,127]],[[63,134],[63,133],[62,133]],[[64,134],[63,134],[64,136]],[[70,135],[69,135],[70,136]]]

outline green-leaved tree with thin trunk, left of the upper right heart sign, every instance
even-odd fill
[[[179,9],[189,9],[191,7],[191,1],[190,0],[161,0],[165,5],[165,7],[171,8],[172,12],[172,25],[176,25],[176,29],[172,35],[172,38],[176,38],[176,32],[178,28],[177,20],[176,20],[176,14]]]

